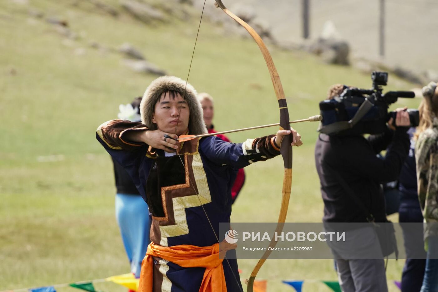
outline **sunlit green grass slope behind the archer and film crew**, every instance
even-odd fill
[[[141,95],[155,76],[133,73],[120,64],[118,53],[101,52],[88,43],[93,40],[111,48],[132,43],[168,74],[186,78],[198,27],[197,11],[187,22],[173,19],[147,26],[124,13],[113,18],[86,4],[72,6],[73,1],[31,3],[0,2],[0,290],[129,271],[114,216],[112,165],[95,140],[95,129],[115,118],[118,105]],[[108,3],[117,7],[117,1]],[[66,40],[46,21],[30,18],[29,7],[65,18],[79,39]],[[85,54],[76,55],[78,48],[84,48]],[[318,114],[318,102],[333,83],[371,85],[369,75],[353,68],[322,64],[301,52],[271,49],[291,119]],[[411,88],[390,78],[389,89]],[[226,36],[221,28],[203,22],[189,82],[215,98],[219,131],[278,120],[268,70],[251,39]],[[417,107],[418,100],[402,103]],[[323,204],[313,158],[316,126],[295,126],[304,146],[294,149],[287,221],[321,221]],[[240,142],[271,132],[275,129],[229,136]],[[38,161],[49,155],[63,155],[64,160]],[[233,206],[233,221],[277,220],[282,165],[278,158],[247,168],[246,184]],[[239,261],[242,280],[255,263]],[[399,279],[402,267],[403,260],[390,261],[388,279]],[[281,280],[336,280],[336,274],[331,260],[268,260],[258,278],[268,279],[268,291],[282,291],[287,288]],[[96,286],[125,291],[112,284]],[[390,290],[396,291],[392,286],[389,282]],[[317,283],[304,288],[329,291]]]

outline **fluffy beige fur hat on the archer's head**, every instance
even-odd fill
[[[187,102],[190,110],[189,133],[191,135],[207,133],[201,103],[197,99],[198,93],[190,83],[175,76],[161,76],[148,86],[140,103],[141,123],[151,130],[157,129],[157,126],[152,122],[152,114],[155,104],[166,91],[179,93]]]

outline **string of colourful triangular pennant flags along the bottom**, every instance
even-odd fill
[[[7,291],[0,291],[0,292],[56,292],[56,288],[62,288],[62,287],[73,287],[77,289],[81,289],[88,292],[102,292],[99,290],[96,290],[93,283],[100,283],[100,282],[113,282],[119,285],[122,285],[132,291],[138,290],[138,282],[139,279],[136,279],[133,274],[122,274],[118,276],[112,276],[105,279],[98,279],[98,280],[92,280],[92,281],[82,281],[82,282],[75,282],[75,283],[66,283],[66,284],[58,284],[58,285],[51,285],[46,287],[38,287],[38,288],[25,288],[25,289],[15,289],[15,290],[7,290]],[[290,281],[282,281],[284,284],[290,285],[294,288],[296,292],[302,292],[304,281],[306,282],[321,282],[327,285],[332,291],[334,292],[342,292],[341,287],[339,285],[338,281],[321,281],[321,280],[290,280]],[[256,292],[266,292],[266,280],[260,280],[254,282],[254,291]],[[400,289],[400,282],[394,281],[394,285],[396,285]]]

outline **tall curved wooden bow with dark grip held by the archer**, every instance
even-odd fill
[[[228,16],[233,18],[237,23],[242,25],[247,32],[252,36],[252,38],[257,43],[258,47],[261,50],[261,53],[263,54],[263,57],[265,58],[266,65],[268,66],[269,74],[271,75],[272,84],[274,85],[274,91],[278,100],[279,104],[279,110],[280,110],[280,129],[281,130],[290,130],[289,125],[289,112],[287,110],[287,103],[286,98],[284,96],[283,86],[280,81],[280,76],[278,75],[277,69],[274,65],[274,62],[272,61],[271,54],[269,53],[268,49],[265,46],[265,43],[263,43],[263,40],[258,35],[255,30],[248,25],[245,21],[237,17],[233,12],[229,11],[225,5],[222,3],[222,0],[215,0],[216,7],[219,7],[225,12]],[[281,207],[280,207],[280,214],[278,218],[278,223],[276,227],[276,232],[281,232],[283,230],[284,223],[286,221],[286,214],[287,209],[289,207],[289,199],[290,199],[290,191],[292,188],[292,147],[290,146],[292,142],[292,135],[287,135],[283,138],[281,142],[280,152],[283,157],[284,161],[284,176],[283,176],[283,195],[281,198]],[[272,241],[269,247],[276,246],[277,242]],[[257,276],[258,271],[260,270],[261,266],[265,263],[268,256],[271,254],[271,250],[268,248],[260,260],[258,260],[258,263],[254,267],[253,271],[251,272],[251,276],[249,280],[247,280],[247,291],[252,292],[253,291],[253,285],[255,277]]]

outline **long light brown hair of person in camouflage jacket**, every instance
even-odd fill
[[[417,131],[414,134],[414,138],[418,136],[433,125],[433,119],[438,117],[438,93],[437,84],[430,82],[427,86],[423,87],[423,100],[421,100],[418,111],[420,114],[420,123],[418,124]]]

